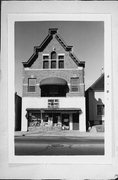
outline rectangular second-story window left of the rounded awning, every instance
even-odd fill
[[[35,92],[36,90],[36,78],[28,79],[28,92]]]

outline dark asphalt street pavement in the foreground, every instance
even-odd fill
[[[29,133],[15,136],[15,155],[104,155],[102,134]]]

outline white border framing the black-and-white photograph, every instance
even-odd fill
[[[105,155],[102,156],[16,156],[14,155],[15,118],[15,22],[17,21],[104,21],[105,68]],[[8,128],[9,163],[112,163],[112,63],[111,63],[111,15],[109,14],[8,14]]]

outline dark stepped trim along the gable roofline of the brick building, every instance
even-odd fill
[[[23,62],[24,67],[30,67],[33,62],[36,60],[38,57],[38,52],[42,52],[45,47],[50,43],[50,41],[53,39],[53,35],[55,35],[56,40],[61,44],[61,46],[65,49],[65,51],[69,52],[69,56],[72,58],[72,60],[76,63],[77,66],[82,66],[85,67],[85,61],[80,61],[73,53],[72,53],[72,47],[73,46],[68,46],[62,37],[57,34],[58,29],[57,28],[49,28],[48,30],[48,35],[46,38],[43,40],[43,42],[40,44],[40,46],[35,46],[34,47],[34,53],[32,56],[29,58],[27,62]]]

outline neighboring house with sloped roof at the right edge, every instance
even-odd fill
[[[86,122],[88,125],[104,124],[104,74],[86,90]]]

